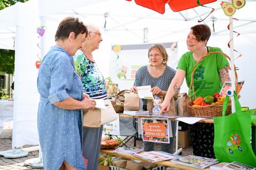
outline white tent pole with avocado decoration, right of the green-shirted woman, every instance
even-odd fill
[[[229,0],[229,3],[232,4],[232,1]],[[231,68],[231,90],[235,91],[236,89],[236,84],[235,84],[235,63],[234,63],[234,39],[233,39],[233,16],[229,16],[229,38],[230,38],[230,68]],[[233,93],[232,93],[233,94]],[[234,96],[231,95],[231,111],[232,113],[236,112],[235,108],[235,99]]]

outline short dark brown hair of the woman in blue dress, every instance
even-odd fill
[[[78,18],[67,17],[60,22],[55,34],[55,41],[67,39],[70,32],[75,33],[75,38],[80,33],[85,33],[85,37],[87,37],[88,30]]]

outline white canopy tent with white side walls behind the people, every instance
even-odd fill
[[[214,6],[219,9],[219,4],[220,1],[206,6]],[[242,105],[254,108],[256,104],[252,98],[256,92],[252,72],[256,70],[253,66],[253,61],[255,61],[253,54],[256,53],[256,18],[251,14],[255,7],[255,2],[246,1],[246,5],[237,10],[234,15],[234,18],[239,19],[234,22],[234,30],[241,33],[241,36],[234,40],[234,48],[244,54],[235,62],[240,69],[238,76],[245,79],[240,101]],[[181,56],[187,51],[186,37],[189,28],[198,24],[198,15],[204,14],[202,15],[204,18],[206,11],[209,12],[210,9],[196,7],[174,13],[170,9],[167,10],[166,6],[166,12],[162,15],[138,6],[134,2],[124,0],[30,0],[0,11],[0,48],[15,49],[12,146],[38,144],[37,106],[39,94],[36,88],[38,70],[35,67],[35,62],[38,60],[38,55],[42,57],[54,45],[54,33],[63,18],[77,16],[85,22],[94,22],[102,28],[103,41],[100,49],[94,55],[102,73],[107,77],[109,69],[106,63],[109,62],[111,45],[141,44],[143,41],[149,43],[178,41],[179,56]],[[214,32],[208,45],[218,46],[229,55],[230,51],[227,47],[229,41],[228,16],[221,9],[216,10],[203,23],[213,29],[213,22]],[[36,28],[41,25],[45,26],[46,31],[42,38],[38,38]],[[148,40],[143,37],[145,28],[148,28]],[[238,54],[235,53],[235,56]],[[170,58],[170,60],[172,59]],[[186,85],[182,87],[182,91],[187,91]]]

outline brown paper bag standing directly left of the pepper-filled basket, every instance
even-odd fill
[[[177,100],[177,116],[187,116],[190,115],[190,109],[187,107],[190,99],[186,92],[178,95]]]

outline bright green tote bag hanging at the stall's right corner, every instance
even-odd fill
[[[240,162],[256,167],[256,156],[253,153],[251,124],[255,116],[248,111],[241,111],[241,105],[234,92],[236,112],[225,116],[229,96],[223,103],[222,116],[213,117],[214,153],[219,162]]]

